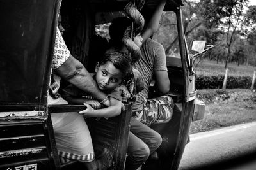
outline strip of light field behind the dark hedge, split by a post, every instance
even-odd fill
[[[253,76],[255,67],[228,63],[228,76]],[[217,76],[225,75],[225,63],[217,64],[216,61],[202,60],[196,68],[197,75]]]

